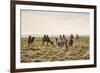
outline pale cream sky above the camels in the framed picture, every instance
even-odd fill
[[[21,11],[21,34],[89,35],[89,13]]]

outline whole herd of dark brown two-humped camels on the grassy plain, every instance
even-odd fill
[[[31,35],[28,36],[28,46],[30,46],[34,42],[34,39],[35,37],[32,37]],[[65,35],[60,35],[59,37],[55,37],[56,45],[61,46],[61,47],[65,46],[66,48],[73,46],[74,39],[76,40],[79,39],[78,34],[76,34],[75,37],[73,36],[73,34],[71,34],[69,36],[69,39],[67,39]],[[53,40],[51,40],[51,38],[48,35],[44,35],[41,41],[43,45],[45,44],[48,45],[49,43],[51,45],[54,45]]]

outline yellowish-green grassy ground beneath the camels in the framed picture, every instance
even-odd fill
[[[67,38],[67,37],[66,37]],[[35,37],[28,46],[28,37],[21,37],[21,62],[51,62],[89,59],[89,37],[80,36],[74,40],[73,47],[66,48],[56,44],[55,37],[50,37],[54,45],[42,43],[42,37]]]

